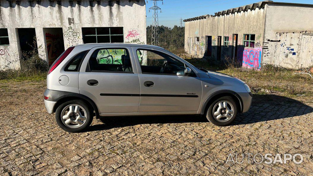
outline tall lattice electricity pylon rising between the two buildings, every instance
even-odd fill
[[[158,10],[160,10],[160,13],[162,13],[161,8],[159,8],[157,6],[157,2],[158,1],[162,1],[163,4],[163,0],[150,0],[153,1],[153,6],[151,8],[149,8],[149,12],[150,10],[153,10],[154,13],[152,15],[153,19],[152,19],[152,33],[151,33],[151,45],[156,45],[158,46],[159,42],[157,41],[157,38],[159,36],[158,34],[158,26],[159,26],[159,18],[158,18]],[[148,3],[148,1],[147,1]]]

